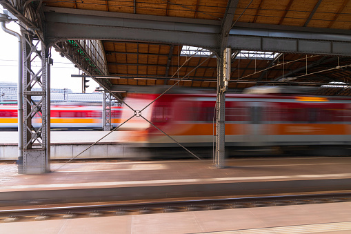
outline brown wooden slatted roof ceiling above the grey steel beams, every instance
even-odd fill
[[[351,29],[350,0],[240,0],[235,11],[234,21],[247,8],[239,22],[268,23],[285,26],[304,26],[312,28]],[[227,0],[50,0],[43,1],[46,6],[77,8],[134,14],[151,14],[192,19],[222,19]],[[180,86],[216,87],[217,61],[208,57],[181,56],[183,45],[141,43],[130,41],[103,41],[112,84],[164,85],[176,81],[166,80],[187,75]],[[307,59],[306,59],[307,57]],[[170,62],[168,60],[170,59]],[[189,59],[187,61],[187,59]],[[289,62],[288,64],[286,64]],[[270,64],[271,60],[234,59],[232,61],[232,80],[272,81],[278,77],[291,78],[294,82],[351,82],[349,64],[351,58],[323,57],[322,55],[299,55],[285,53]],[[285,63],[285,64],[284,64]],[[279,65],[280,64],[280,65]],[[284,65],[283,65],[284,64]],[[195,68],[199,66],[199,68]],[[267,69],[269,66],[269,69]],[[307,71],[305,66],[308,66]],[[336,66],[346,66],[334,69]],[[181,67],[181,68],[180,68]],[[194,69],[195,68],[195,69]],[[265,70],[267,69],[267,70]],[[330,70],[328,70],[330,69]],[[177,72],[178,70],[178,72]],[[265,70],[259,72],[260,70]],[[307,74],[307,75],[306,75]],[[126,79],[148,78],[148,79]],[[155,79],[163,78],[163,79]],[[188,80],[186,80],[188,79]],[[199,81],[197,81],[197,79]],[[206,80],[206,81],[204,81]],[[231,83],[230,88],[246,88],[254,83]],[[349,89],[323,88],[323,95],[351,95]]]

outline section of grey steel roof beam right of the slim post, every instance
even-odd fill
[[[228,45],[241,50],[351,56],[348,30],[237,23]]]

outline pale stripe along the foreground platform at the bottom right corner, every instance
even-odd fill
[[[206,234],[307,234],[334,231],[350,231],[351,222],[337,222],[328,224],[305,224],[296,226],[279,226],[272,228],[250,228],[232,231],[217,231]]]

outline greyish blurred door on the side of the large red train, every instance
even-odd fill
[[[250,102],[249,104],[250,125],[248,129],[248,142],[250,142],[252,146],[261,146],[264,142],[264,108],[264,102]]]

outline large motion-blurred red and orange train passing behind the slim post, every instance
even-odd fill
[[[125,101],[139,112],[158,96],[131,94]],[[141,115],[183,146],[201,151],[214,146],[215,105],[215,94],[166,94]],[[132,110],[123,108],[122,121],[132,115]],[[177,146],[141,117],[133,117],[120,128],[139,132],[130,142],[139,142],[140,147],[170,152],[168,147]],[[227,94],[225,146],[230,155],[255,150],[258,154],[351,155],[351,98]]]

